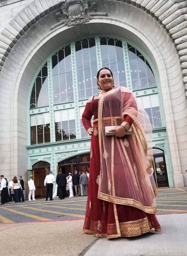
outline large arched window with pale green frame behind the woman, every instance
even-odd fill
[[[47,63],[52,65],[52,72]],[[96,74],[100,67],[112,70],[116,86],[128,86],[137,93],[153,129],[162,127],[159,95],[157,90],[149,90],[157,86],[153,69],[146,57],[124,40],[108,36],[77,40],[49,56],[47,63],[38,72],[31,92],[31,145],[49,143],[50,132],[56,134],[55,141],[89,137],[81,116],[86,100],[99,92]],[[33,108],[38,108],[37,113]]]

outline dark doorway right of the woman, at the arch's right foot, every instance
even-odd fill
[[[167,168],[163,150],[153,148],[154,179],[158,188],[168,187]]]

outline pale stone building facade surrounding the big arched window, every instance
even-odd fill
[[[34,157],[32,161],[27,157],[27,104],[31,81],[47,56],[76,38],[115,35],[138,45],[154,63],[163,100],[174,186],[187,185],[186,1],[98,0],[94,1],[97,12],[107,12],[107,17],[98,15],[87,23],[70,27],[62,25],[53,30],[51,27],[57,23],[55,13],[60,1],[3,2],[0,17],[3,17],[4,10],[9,12],[7,19],[1,18],[0,27],[2,173],[7,173],[7,177],[24,174],[30,164],[34,163]],[[52,166],[58,157],[82,152],[84,147],[88,150],[89,141],[81,143],[74,145],[77,148],[67,145],[63,152],[61,148],[55,148],[49,155]],[[42,148],[41,152],[29,150],[31,154],[40,153],[43,159]]]

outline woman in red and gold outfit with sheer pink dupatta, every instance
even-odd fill
[[[114,87],[109,68],[98,71],[97,83],[101,92],[88,100],[82,114],[91,135],[84,232],[115,238],[160,231],[152,158],[145,139],[146,135],[151,138],[149,117],[138,109],[130,90]],[[110,125],[117,125],[110,130],[114,136],[105,135],[105,127]]]

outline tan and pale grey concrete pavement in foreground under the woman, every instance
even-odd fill
[[[187,214],[159,215],[163,231],[108,240],[82,234],[83,220],[0,225],[5,256],[186,256]]]

